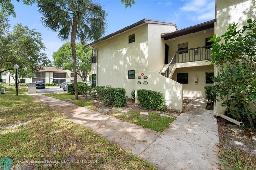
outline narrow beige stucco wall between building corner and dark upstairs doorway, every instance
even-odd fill
[[[164,65],[165,41],[160,37],[173,31],[173,25],[148,24],[148,70],[158,73]]]

